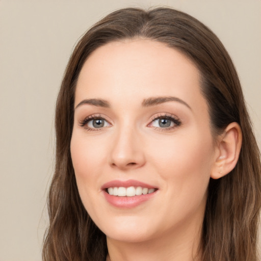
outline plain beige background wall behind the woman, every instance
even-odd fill
[[[261,1],[0,0],[0,260],[41,260],[46,188],[54,165],[54,108],[74,43],[129,6],[188,12],[223,41],[239,72],[261,144]]]

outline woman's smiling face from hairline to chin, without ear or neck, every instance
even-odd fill
[[[151,40],[96,49],[76,85],[71,157],[82,202],[108,238],[197,233],[215,147],[196,66]]]

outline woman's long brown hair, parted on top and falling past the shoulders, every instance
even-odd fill
[[[106,236],[81,202],[71,162],[74,90],[92,51],[108,42],[131,38],[163,42],[195,63],[201,72],[201,89],[208,103],[213,135],[231,122],[241,126],[243,144],[237,166],[228,175],[210,180],[202,226],[202,260],[257,261],[260,155],[236,69],[210,29],[190,15],[169,8],[115,11],[96,23],[77,43],[57,99],[56,168],[48,195],[50,224],[43,260],[106,259]]]

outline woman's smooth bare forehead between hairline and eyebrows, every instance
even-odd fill
[[[200,72],[190,59],[164,43],[136,39],[93,51],[80,72],[75,103],[83,98],[138,102],[147,96],[176,96],[192,105],[205,102]]]

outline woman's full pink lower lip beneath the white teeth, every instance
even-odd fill
[[[146,194],[146,195],[140,195],[140,196],[133,196],[133,197],[119,197],[119,196],[113,196],[108,194],[106,191],[103,191],[103,194],[105,195],[106,200],[116,207],[122,207],[122,208],[132,208],[135,206],[140,205],[141,203],[150,200],[154,195],[156,191]]]

